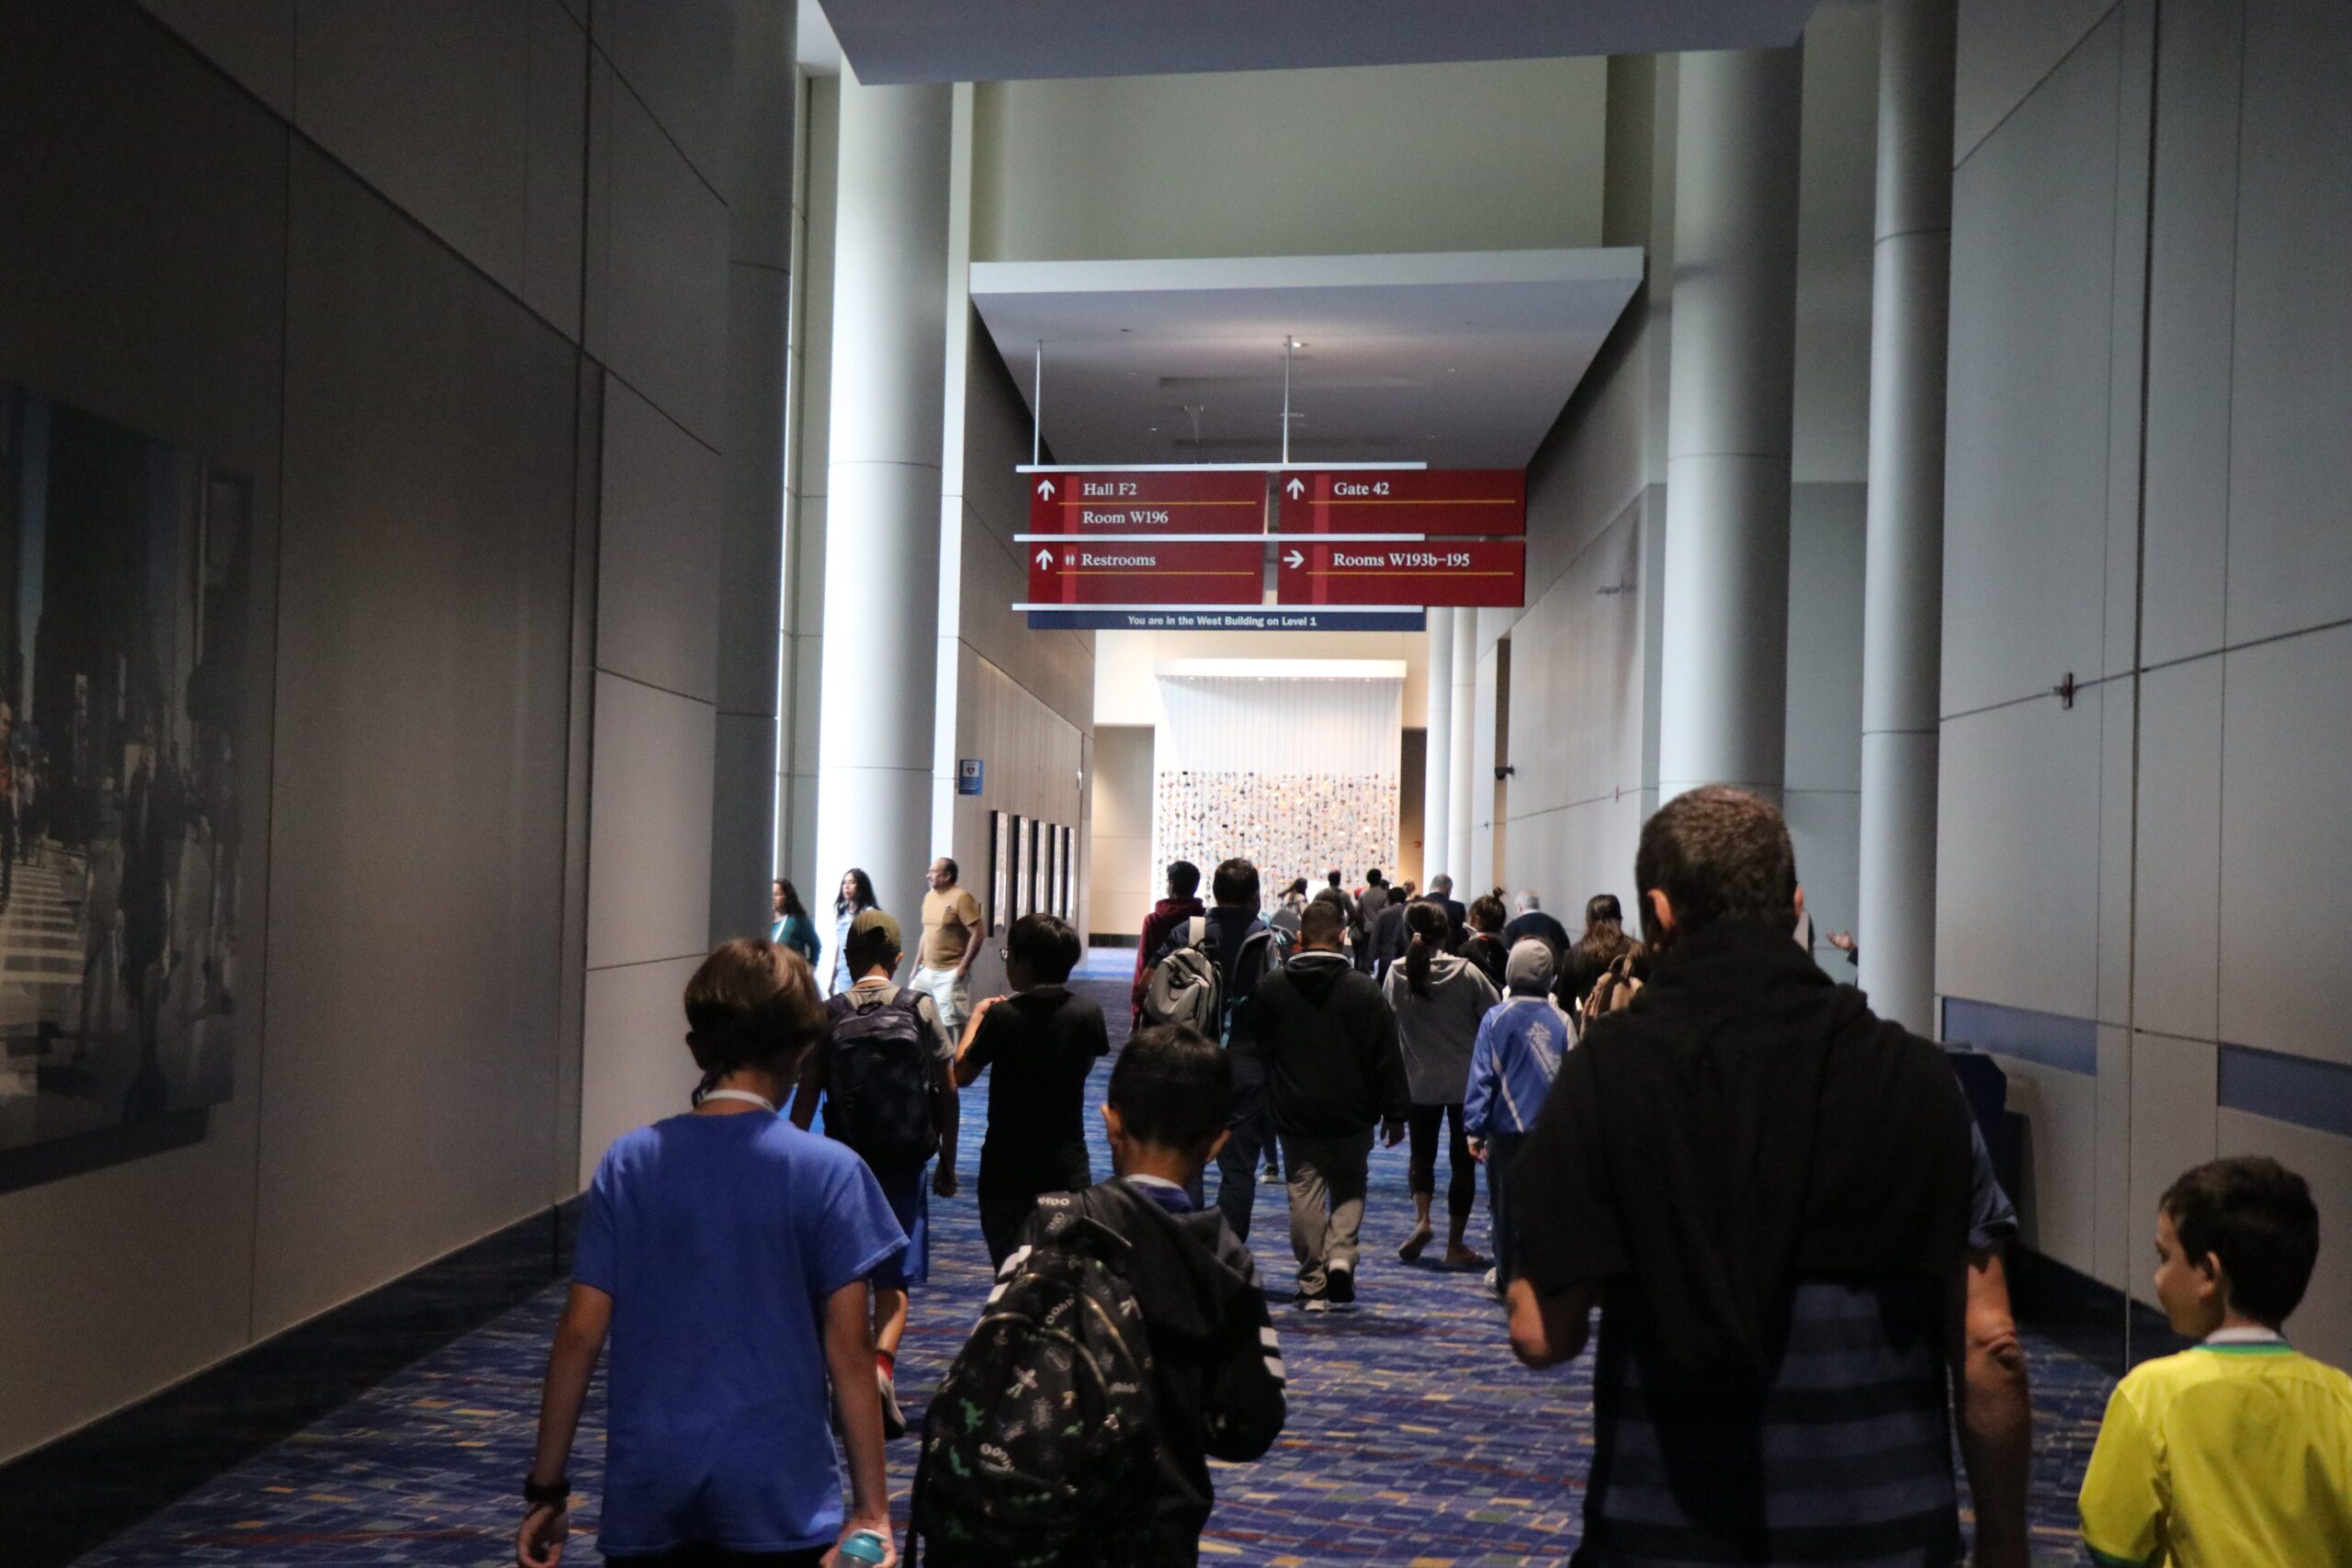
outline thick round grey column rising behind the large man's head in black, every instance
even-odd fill
[[[1780,795],[1802,80],[1795,47],[1682,56],[1661,799]]]

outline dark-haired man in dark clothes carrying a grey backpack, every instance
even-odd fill
[[[1249,1025],[1249,997],[1258,980],[1282,969],[1289,938],[1258,919],[1258,867],[1249,860],[1221,863],[1209,879],[1209,896],[1216,907],[1176,926],[1152,957],[1143,1020],[1221,1039],[1232,1058],[1228,1135],[1216,1154],[1216,1206],[1232,1225],[1232,1234],[1249,1241],[1249,1211],[1258,1201],[1258,1154],[1272,1143],[1265,1067]],[[1200,1197],[1195,1187],[1192,1201]]]

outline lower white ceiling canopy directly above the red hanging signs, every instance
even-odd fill
[[[1642,282],[1642,252],[978,261],[971,303],[1058,463],[1524,468]],[[1033,409],[1035,411],[1035,409]],[[1197,411],[1197,440],[1195,440]]]

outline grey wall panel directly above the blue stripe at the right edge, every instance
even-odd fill
[[[2352,1063],[2352,625],[2227,656],[2220,1037]]]

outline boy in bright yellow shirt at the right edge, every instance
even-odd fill
[[[2352,1378],[2279,1335],[2319,1211],[2274,1159],[2216,1159],[2157,1206],[2157,1300],[2194,1349],[2131,1368],[2082,1479],[2100,1563],[2352,1563]]]

